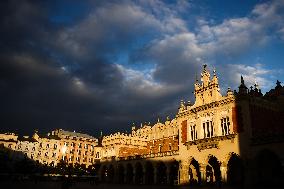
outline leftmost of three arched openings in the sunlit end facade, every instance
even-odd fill
[[[188,181],[190,185],[198,185],[201,183],[201,174],[199,170],[199,163],[192,159],[188,169]]]

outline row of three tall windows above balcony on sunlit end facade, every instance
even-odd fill
[[[229,135],[230,131],[230,120],[229,117],[225,117],[221,119],[220,129],[222,131],[222,136]],[[202,130],[203,130],[203,138],[211,138],[214,136],[214,126],[213,121],[206,121],[202,123]],[[190,140],[197,140],[197,127],[196,125],[189,126],[189,135]]]

